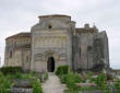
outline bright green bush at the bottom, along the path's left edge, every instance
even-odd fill
[[[43,93],[40,81],[35,80],[33,82],[33,93]]]

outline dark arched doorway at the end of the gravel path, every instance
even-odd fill
[[[55,71],[55,58],[53,57],[48,58],[47,70],[48,70],[48,72],[53,72]]]

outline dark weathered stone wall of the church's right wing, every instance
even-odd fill
[[[109,67],[108,39],[105,32],[84,33],[73,36],[74,69]]]

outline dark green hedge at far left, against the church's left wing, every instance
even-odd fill
[[[22,67],[3,67],[3,68],[0,68],[0,71],[3,73],[3,74],[8,74],[8,73],[16,73],[16,72],[22,72]]]

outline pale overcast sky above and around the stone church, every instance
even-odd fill
[[[82,27],[95,23],[107,31],[110,67],[120,69],[120,0],[0,0],[0,57],[3,61],[4,38],[29,32],[39,15],[68,14]]]

